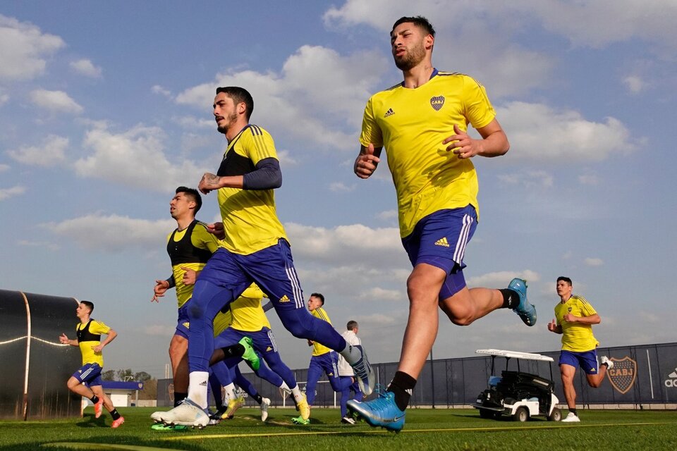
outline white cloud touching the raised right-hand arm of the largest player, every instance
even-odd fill
[[[641,142],[616,118],[588,121],[578,111],[513,101],[496,109],[511,143],[508,156],[530,161],[603,161]]]

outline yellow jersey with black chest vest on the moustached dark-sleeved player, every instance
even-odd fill
[[[228,143],[216,175],[245,175],[267,158],[277,159],[270,133],[247,125]],[[287,240],[275,209],[274,190],[219,188],[219,208],[226,238],[222,246],[235,254],[248,255]]]

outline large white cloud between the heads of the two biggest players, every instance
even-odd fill
[[[375,52],[343,56],[325,47],[303,46],[289,56],[280,73],[231,70],[214,82],[186,89],[176,102],[207,113],[216,86],[246,86],[254,98],[252,123],[275,139],[283,134],[307,143],[309,149],[354,152],[365,101],[386,68]]]

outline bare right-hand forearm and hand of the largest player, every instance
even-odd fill
[[[479,156],[501,156],[508,152],[510,143],[506,132],[499,121],[494,118],[484,127],[477,128],[477,132],[482,137],[481,140],[475,140],[467,132],[461,130],[458,124],[453,125],[454,134],[442,141],[442,144],[449,144],[446,147],[448,152],[453,152],[460,159]]]

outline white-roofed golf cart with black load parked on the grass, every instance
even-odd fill
[[[492,356],[492,376],[489,388],[477,395],[472,407],[480,410],[480,416],[499,419],[511,416],[514,421],[527,421],[532,416],[545,416],[548,421],[560,421],[562,414],[557,408],[559,400],[553,393],[552,366],[550,379],[520,371],[520,359],[553,362],[552,357],[530,352],[503,350],[477,350],[477,354]],[[506,369],[501,376],[494,376],[496,357],[506,358]],[[516,359],[517,371],[508,371],[510,359]]]

